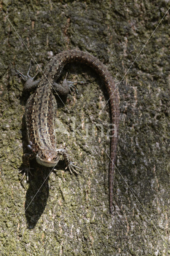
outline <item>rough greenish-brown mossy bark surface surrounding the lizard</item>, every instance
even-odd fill
[[[156,28],[168,7],[164,0],[1,2],[8,17],[0,12],[1,255],[168,255],[168,13]],[[57,99],[56,124],[58,143],[83,172],[71,176],[61,161],[46,179],[49,170],[32,162],[30,182],[20,184],[29,95],[15,68],[25,74],[32,56],[44,68],[67,49],[93,54],[121,81],[113,215],[109,105],[101,112],[108,96],[85,65],[63,71],[61,80],[68,72],[68,80],[88,83],[77,85],[67,108]]]

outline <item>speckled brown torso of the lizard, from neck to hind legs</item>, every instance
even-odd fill
[[[56,147],[54,136],[57,102],[48,82],[41,82],[26,103],[25,119],[28,141],[38,150]]]

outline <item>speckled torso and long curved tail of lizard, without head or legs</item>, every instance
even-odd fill
[[[49,61],[45,68],[47,78],[42,77],[36,91],[26,104],[25,118],[28,141],[32,142],[32,150],[35,155],[43,148],[49,152],[57,150],[54,136],[57,103],[50,83],[53,83],[54,78],[55,81],[59,78],[65,64],[70,62],[83,62],[93,68],[103,78],[109,95],[111,123],[114,124],[111,134],[111,162],[109,165],[109,204],[112,212],[114,165],[119,132],[119,100],[111,74],[97,58],[86,52],[69,50],[57,54]]]

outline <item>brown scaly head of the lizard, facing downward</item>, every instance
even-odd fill
[[[52,167],[57,165],[59,154],[53,149],[42,149],[36,155],[36,161],[43,166]]]

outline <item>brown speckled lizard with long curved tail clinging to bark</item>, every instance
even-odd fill
[[[27,75],[23,75],[17,70],[18,74],[25,80],[24,90],[30,91],[36,88],[35,92],[27,100],[24,113],[28,139],[27,147],[30,150],[29,153],[22,156],[25,166],[24,175],[26,174],[28,180],[28,175],[31,173],[30,159],[32,158],[36,158],[38,164],[42,166],[52,167],[56,166],[59,158],[63,156],[67,164],[66,169],[68,168],[70,173],[73,171],[77,174],[76,169],[81,169],[76,165],[77,163],[71,161],[71,157],[65,148],[57,148],[54,136],[57,102],[53,89],[55,89],[57,94],[67,96],[71,85],[66,80],[63,81],[62,85],[56,82],[64,66],[71,62],[81,62],[93,68],[105,82],[109,96],[111,123],[113,124],[113,129],[111,130],[111,160],[109,163],[109,209],[113,213],[113,178],[119,132],[118,92],[115,88],[114,80],[104,64],[87,52],[79,50],[60,52],[47,63],[44,71],[45,76],[42,76],[40,80],[35,80],[38,73],[34,77],[29,75],[30,68]]]

